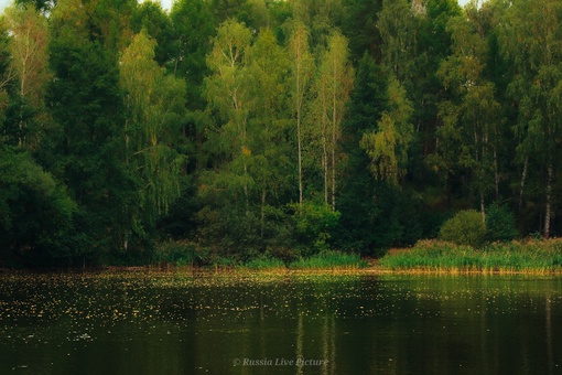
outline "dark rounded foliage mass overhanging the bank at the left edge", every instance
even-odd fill
[[[29,153],[0,150],[0,259],[20,257],[29,266],[68,259],[76,204],[64,186]],[[85,253],[88,249],[84,249]]]

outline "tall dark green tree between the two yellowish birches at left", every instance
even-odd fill
[[[54,78],[46,101],[56,126],[47,135],[53,154],[45,167],[77,204],[77,254],[98,261],[122,249],[130,227],[127,207],[137,197],[120,158],[125,108],[115,51],[98,40],[87,22],[90,9],[80,4],[61,1],[51,14],[57,29],[48,46]]]

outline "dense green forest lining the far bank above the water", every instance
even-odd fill
[[[15,0],[0,267],[562,232],[560,0]],[[499,213],[499,214],[498,214]]]

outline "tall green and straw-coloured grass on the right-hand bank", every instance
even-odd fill
[[[379,261],[390,270],[437,272],[562,272],[562,239],[493,243],[482,249],[421,240],[412,249],[390,251]]]

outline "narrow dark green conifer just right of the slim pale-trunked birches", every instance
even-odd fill
[[[387,245],[381,243],[381,238],[388,212],[381,212],[377,199],[381,196],[381,183],[372,179],[370,158],[358,146],[364,135],[376,131],[382,113],[388,108],[388,77],[375,58],[365,53],[355,81],[343,128],[342,147],[347,160],[342,168],[338,199],[342,217],[336,239],[338,248],[367,251],[375,246]],[[381,217],[385,221],[379,222]]]

